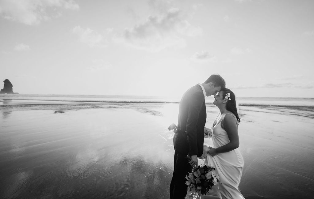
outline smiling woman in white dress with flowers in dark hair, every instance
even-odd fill
[[[243,157],[238,149],[238,123],[235,95],[230,89],[223,89],[214,96],[213,104],[220,113],[211,129],[205,128],[208,136],[213,138],[213,147],[206,150],[205,163],[216,168],[221,184],[213,186],[213,191],[220,198],[244,198],[238,189],[242,169]]]

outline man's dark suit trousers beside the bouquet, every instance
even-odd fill
[[[192,171],[192,166],[188,163],[184,154],[175,151],[174,171],[170,183],[170,199],[183,199],[187,195],[187,185],[185,177]]]

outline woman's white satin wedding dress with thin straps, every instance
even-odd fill
[[[227,132],[221,128],[220,123],[216,124],[214,128],[212,128],[212,132],[214,148],[218,148],[229,143]],[[204,147],[203,156],[207,154],[207,151],[209,151],[208,147]],[[213,186],[213,191],[216,192],[217,196],[221,199],[244,198],[238,189],[244,164],[243,157],[238,149],[225,153],[219,153],[214,157],[207,154],[205,164],[214,166],[220,177],[221,184]]]

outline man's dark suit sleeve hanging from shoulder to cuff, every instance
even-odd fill
[[[193,93],[188,102],[188,115],[187,115],[187,139],[189,144],[189,154],[197,155],[197,137],[196,129],[198,123],[199,112],[202,108],[204,96],[199,93]]]

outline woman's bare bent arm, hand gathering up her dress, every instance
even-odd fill
[[[225,131],[227,132],[230,142],[216,149],[214,148],[210,149],[208,153],[211,156],[214,156],[218,153],[225,153],[225,152],[232,151],[238,148],[240,144],[239,134],[238,134],[238,125],[237,125],[236,119],[232,115],[227,114],[225,115],[225,118],[221,121],[221,124],[223,125]]]

